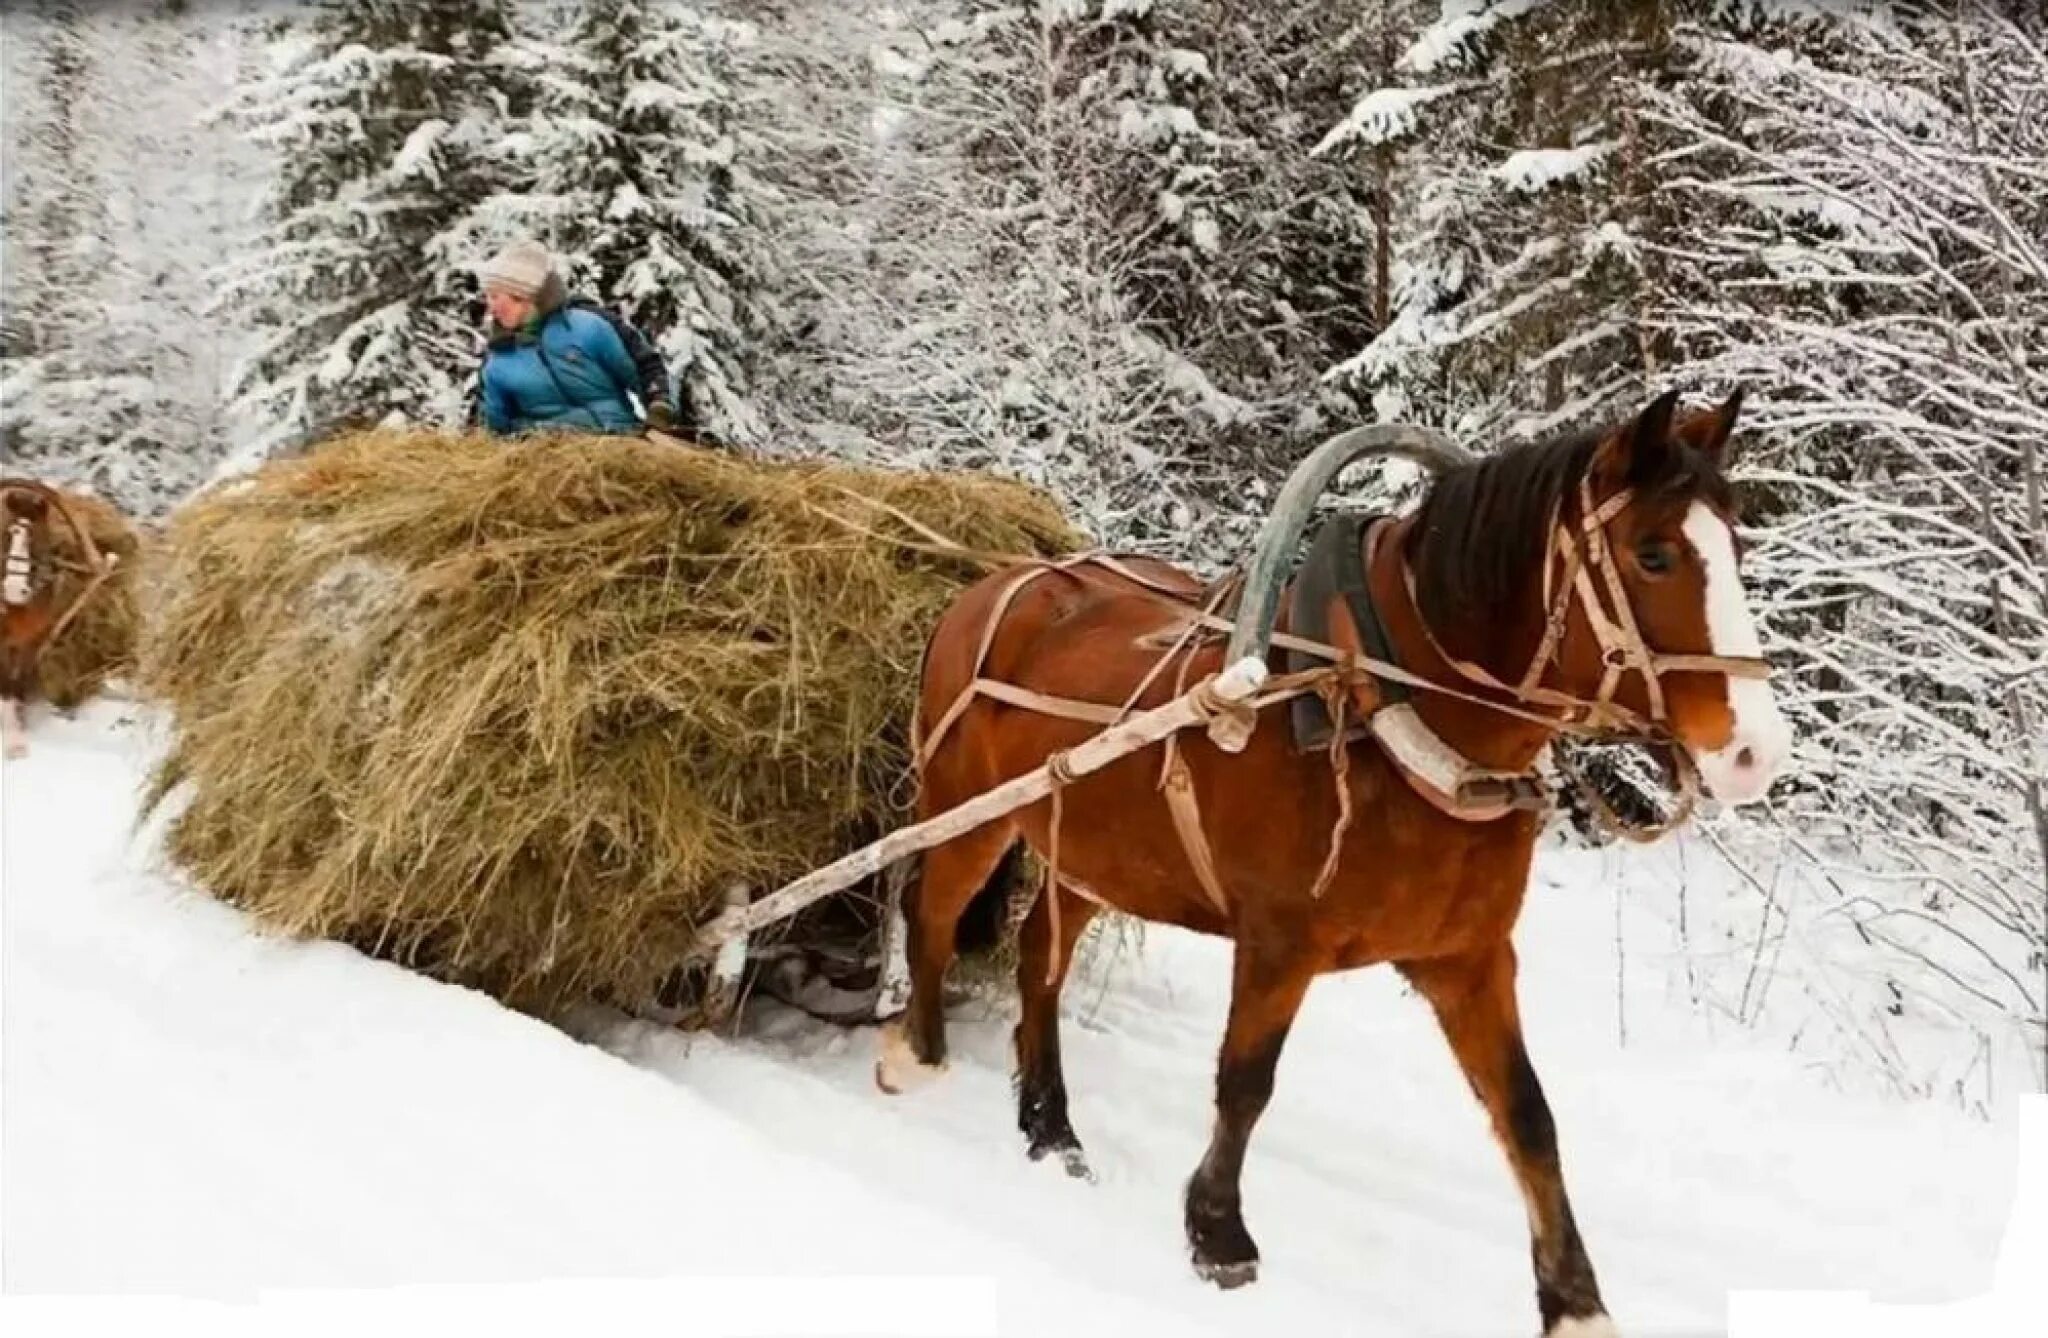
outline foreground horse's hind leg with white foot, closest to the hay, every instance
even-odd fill
[[[874,1084],[881,1090],[907,1092],[944,1072],[944,990],[954,930],[1014,840],[1010,824],[989,824],[926,850],[918,885],[903,906],[909,1002],[903,1016],[881,1031],[881,1057],[874,1061]]]

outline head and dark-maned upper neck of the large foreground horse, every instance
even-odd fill
[[[1683,748],[1724,803],[1759,799],[1792,744],[1726,479],[1741,402],[1681,414],[1671,391],[1614,428],[1446,475],[1411,551],[1430,623],[1477,615],[1528,701]]]

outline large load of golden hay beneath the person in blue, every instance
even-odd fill
[[[918,527],[1083,543],[1020,484],[637,438],[272,461],[166,531],[168,850],[262,926],[520,1008],[668,1004],[733,883],[907,818],[920,652],[983,574]]]

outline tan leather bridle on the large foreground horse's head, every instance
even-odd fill
[[[1622,586],[1620,563],[1614,557],[1614,543],[1608,535],[1614,518],[1628,510],[1634,500],[1634,488],[1622,488],[1595,506],[1591,479],[1581,477],[1577,537],[1573,535],[1573,527],[1561,518],[1552,518],[1550,545],[1544,549],[1542,568],[1544,635],[1530,656],[1528,668],[1522,670],[1516,682],[1501,682],[1483,666],[1448,654],[1438,643],[1436,633],[1430,631],[1427,621],[1421,619],[1421,607],[1417,604],[1417,621],[1430,637],[1432,650],[1470,682],[1505,693],[1526,705],[1556,709],[1561,713],[1556,723],[1567,734],[1608,740],[1634,738],[1653,744],[1677,742],[1671,736],[1669,701],[1663,684],[1665,674],[1769,678],[1769,662],[1761,656],[1677,656],[1649,647],[1636,623],[1628,590]],[[1409,600],[1413,602],[1415,574],[1405,563],[1403,572]],[[1599,580],[1597,586],[1595,578]],[[1602,598],[1602,590],[1606,590],[1606,600]],[[1612,600],[1612,611],[1608,600]],[[1591,699],[1575,697],[1542,682],[1565,643],[1565,629],[1571,623],[1575,602],[1585,613],[1585,623],[1593,629],[1593,639],[1599,643],[1599,691]],[[1642,676],[1642,688],[1649,697],[1649,717],[1616,701],[1616,693],[1630,672]]]

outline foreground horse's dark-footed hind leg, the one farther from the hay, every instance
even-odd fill
[[[1059,914],[1053,914],[1055,900]],[[1051,879],[1018,934],[1018,1129],[1032,1162],[1057,1156],[1069,1176],[1094,1180],[1081,1139],[1067,1119],[1067,1074],[1059,1059],[1059,992],[1073,949],[1100,908]],[[1053,922],[1059,920],[1055,926]]]

